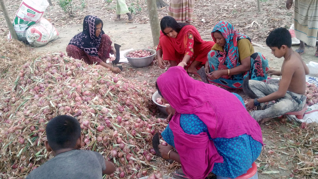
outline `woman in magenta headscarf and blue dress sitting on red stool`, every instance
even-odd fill
[[[210,172],[235,178],[251,168],[262,149],[262,132],[242,98],[192,79],[182,67],[169,68],[156,85],[172,117],[161,134],[169,144],[159,145],[162,158],[179,162],[191,179]]]

